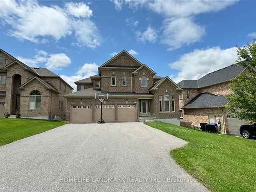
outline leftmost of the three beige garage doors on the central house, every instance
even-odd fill
[[[71,106],[71,123],[90,123],[92,122],[92,106],[73,105]]]

